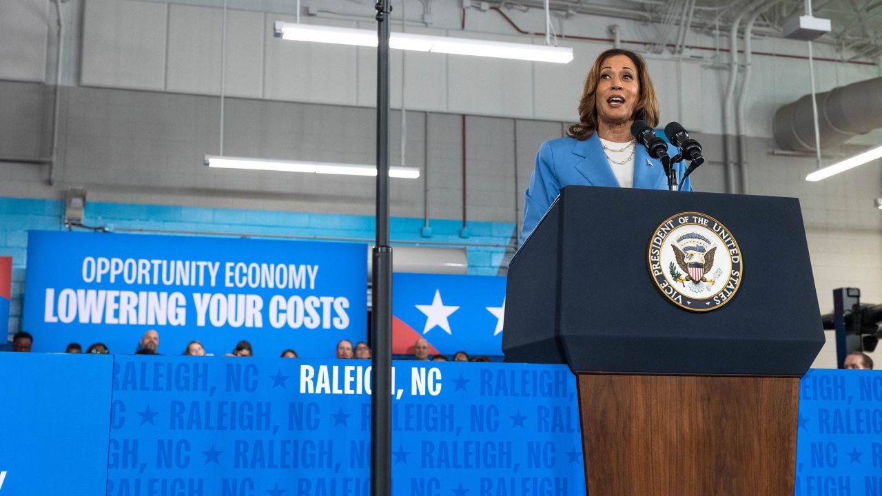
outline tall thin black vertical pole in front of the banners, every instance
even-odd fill
[[[371,276],[370,494],[392,494],[392,247],[389,246],[389,12],[377,0],[377,243]]]

